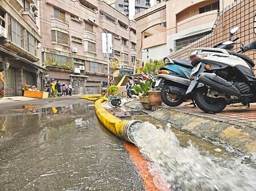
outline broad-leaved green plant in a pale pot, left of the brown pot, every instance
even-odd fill
[[[152,82],[147,79],[146,82],[139,82],[132,89],[136,94],[139,95],[139,101],[141,103],[149,103],[148,101],[148,91],[152,90]]]

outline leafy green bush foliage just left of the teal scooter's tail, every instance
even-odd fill
[[[158,60],[148,60],[142,69],[142,73],[145,75],[156,75],[160,67],[164,66],[164,62],[159,62]]]

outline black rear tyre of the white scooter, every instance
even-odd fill
[[[207,96],[207,88],[197,88],[192,92],[193,99],[196,102],[197,107],[203,110],[205,113],[219,113],[225,109],[228,104],[224,98],[212,98]]]

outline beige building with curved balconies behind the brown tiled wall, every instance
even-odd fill
[[[135,15],[138,58],[160,60],[210,35],[220,12],[233,2],[166,0]]]

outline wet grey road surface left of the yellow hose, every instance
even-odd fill
[[[3,107],[5,106],[5,107]],[[0,105],[0,190],[144,190],[121,139],[78,97]]]

